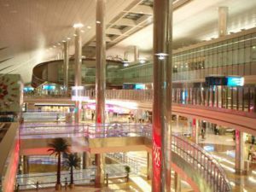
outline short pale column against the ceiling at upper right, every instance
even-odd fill
[[[218,8],[218,37],[227,35],[228,7]]]

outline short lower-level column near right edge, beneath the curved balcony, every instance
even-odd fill
[[[244,171],[244,143],[245,134],[236,130],[236,173],[242,173]]]

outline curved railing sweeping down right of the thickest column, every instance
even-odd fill
[[[223,168],[203,148],[183,137],[172,135],[172,152],[183,158],[205,178],[214,192],[230,192],[231,186]]]

